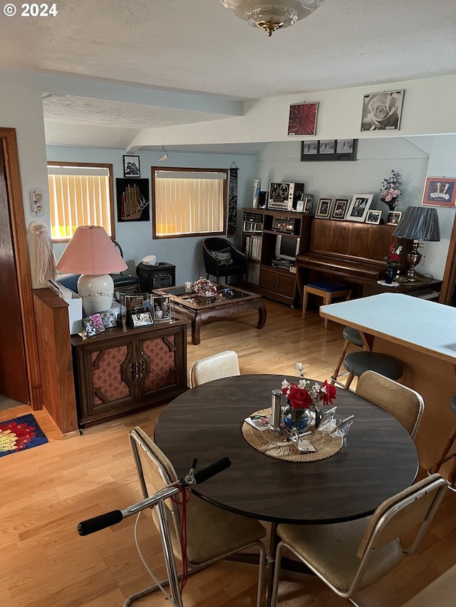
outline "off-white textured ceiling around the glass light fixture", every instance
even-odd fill
[[[271,38],[219,0],[56,4],[56,17],[0,16],[0,68],[71,78],[67,96],[43,101],[48,143],[126,147],[143,128],[227,117],[215,106],[208,110],[207,100],[255,100],[456,71],[456,0],[326,0]],[[88,80],[173,93],[174,99],[97,99],[78,91]],[[185,94],[192,92],[199,96],[189,106]]]

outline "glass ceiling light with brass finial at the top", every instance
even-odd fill
[[[313,13],[324,0],[221,0],[222,4],[249,25],[264,29],[268,36],[292,26]]]

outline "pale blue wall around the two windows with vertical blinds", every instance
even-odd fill
[[[48,146],[48,160],[60,162],[108,162],[113,164],[114,190],[115,179],[123,178],[123,152],[119,149],[94,149],[83,147]],[[139,152],[142,178],[151,179],[150,167],[159,166],[157,152]],[[254,180],[254,157],[228,156],[225,154],[176,154],[170,152],[170,158],[160,162],[160,167],[199,167],[204,169],[229,169],[232,163],[238,171],[238,217],[237,238],[231,238],[240,244],[242,228],[241,207],[252,205]],[[117,206],[115,204],[117,219]],[[152,240],[152,213],[150,221],[115,222],[115,239],[123,248],[128,270],[135,274],[136,266],[145,255],[157,255],[158,261],[166,261],[176,266],[176,283],[196,280],[205,276],[201,241],[203,238],[163,238]],[[64,244],[54,245],[56,258],[63,253]]]

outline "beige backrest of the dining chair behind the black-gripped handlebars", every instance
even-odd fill
[[[165,453],[155,445],[154,441],[139,426],[130,431],[130,445],[135,459],[136,470],[141,485],[142,496],[150,497],[157,491],[178,480],[176,471]],[[171,500],[165,502],[167,518],[172,543],[172,551],[182,560],[180,550],[180,513],[177,505]],[[157,517],[152,517],[155,526],[160,531]]]

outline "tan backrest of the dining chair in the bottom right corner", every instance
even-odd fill
[[[366,527],[358,547],[358,558],[367,561],[375,550],[395,539],[399,539],[404,555],[413,554],[446,491],[446,480],[440,474],[433,474],[385,500]],[[401,541],[403,536],[406,547]]]

